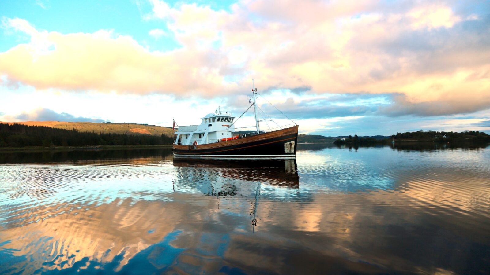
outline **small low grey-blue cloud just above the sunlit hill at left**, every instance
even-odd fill
[[[106,120],[91,117],[74,116],[68,113],[58,114],[53,110],[39,108],[29,113],[15,116],[18,121],[69,121],[69,122],[107,122]]]

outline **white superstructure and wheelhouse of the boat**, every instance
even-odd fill
[[[219,111],[201,117],[201,124],[178,126],[175,144],[193,145],[219,142],[223,138],[233,138],[235,116]],[[196,142],[196,143],[195,143]]]

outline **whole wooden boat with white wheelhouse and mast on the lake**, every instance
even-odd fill
[[[255,132],[242,134],[235,132],[235,122],[244,114],[236,118],[228,112],[221,112],[221,108],[201,117],[198,125],[175,127],[174,121],[173,129],[176,135],[172,144],[174,158],[295,159],[298,125],[278,125],[277,128],[261,130],[259,124],[261,121],[272,120],[259,119],[257,94],[257,89],[252,89],[250,100],[253,98],[253,103],[244,112],[245,114],[253,106]]]

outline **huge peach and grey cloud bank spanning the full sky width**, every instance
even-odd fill
[[[61,34],[7,19],[30,42],[0,53],[0,75],[38,89],[201,97],[236,96],[255,78],[266,93],[400,94],[396,108],[384,109],[393,115],[490,108],[485,4],[312,0],[297,8],[252,0],[225,11],[149,3],[144,18],[165,24],[169,36],[161,39],[180,48],[149,50],[113,31]]]

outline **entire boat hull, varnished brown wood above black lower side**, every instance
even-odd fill
[[[251,137],[201,145],[173,144],[176,158],[294,159],[298,126]]]

